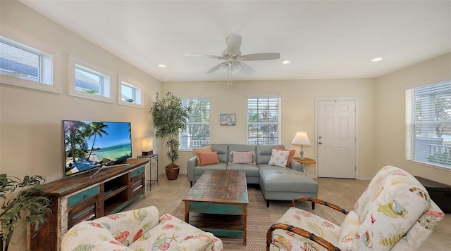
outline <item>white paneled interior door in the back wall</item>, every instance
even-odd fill
[[[356,101],[317,100],[317,176],[355,178]]]

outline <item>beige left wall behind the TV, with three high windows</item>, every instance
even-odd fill
[[[39,174],[47,181],[63,178],[61,120],[131,122],[132,155],[140,155],[140,140],[153,134],[149,108],[161,88],[159,81],[17,1],[1,1],[0,16],[1,29],[61,51],[62,58],[61,94],[0,84],[1,173]],[[68,96],[68,55],[113,72],[114,88],[118,75],[142,85],[144,108]]]

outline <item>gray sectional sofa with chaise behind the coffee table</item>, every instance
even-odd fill
[[[274,146],[285,148],[283,145]],[[302,172],[299,163],[292,160],[290,168],[268,165],[274,146],[211,144],[212,150],[218,152],[220,163],[200,166],[197,165],[197,157],[192,157],[188,160],[188,180],[192,186],[205,170],[243,170],[247,184],[259,184],[267,206],[270,200],[293,200],[299,196],[318,198],[318,183]],[[252,155],[252,162],[256,165],[233,164],[233,155],[230,154],[232,151],[253,151],[255,154]]]

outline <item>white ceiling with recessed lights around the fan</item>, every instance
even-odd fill
[[[372,78],[451,51],[451,1],[21,2],[161,82],[228,80],[184,53],[221,56],[230,33],[242,54],[280,53],[235,81]]]

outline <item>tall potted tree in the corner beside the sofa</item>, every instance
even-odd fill
[[[168,148],[168,156],[171,163],[166,165],[166,177],[168,180],[177,179],[180,166],[175,162],[178,160],[178,133],[180,130],[185,131],[188,127],[188,118],[190,117],[191,108],[182,105],[182,99],[174,96],[171,92],[167,92],[163,98],[159,98],[156,93],[156,101],[154,106],[150,108],[154,127],[156,129],[155,138],[167,138],[166,147]]]

